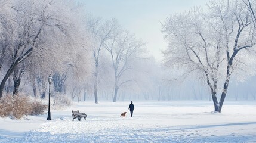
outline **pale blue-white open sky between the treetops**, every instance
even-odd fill
[[[81,0],[88,13],[102,18],[116,18],[119,23],[146,42],[149,54],[162,60],[161,49],[167,46],[161,33],[166,16],[203,7],[206,0]]]

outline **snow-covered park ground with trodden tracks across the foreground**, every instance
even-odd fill
[[[0,142],[256,142],[256,102],[224,102],[212,113],[212,102],[134,101],[134,117],[120,117],[129,102],[73,103],[65,110],[0,118]],[[87,114],[72,121],[71,110]]]

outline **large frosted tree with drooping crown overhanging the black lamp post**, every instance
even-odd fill
[[[42,69],[48,69],[48,73],[38,74],[44,79],[47,79],[45,74],[63,71],[69,64],[72,65],[70,70],[73,80],[76,83],[85,80],[84,77],[90,74],[91,59],[88,49],[90,38],[81,21],[84,9],[75,2],[67,1],[8,1],[8,5],[11,13],[5,12],[8,15],[5,20],[9,20],[7,23],[12,23],[13,26],[2,32],[5,37],[10,36],[11,40],[7,44],[8,51],[6,49],[4,52],[8,62],[5,63],[7,70],[0,85],[0,97],[5,82],[14,70],[17,69],[17,73],[23,72],[21,64],[24,61],[29,61],[26,66],[30,67],[29,71],[33,71],[33,74],[47,72]],[[37,72],[31,70],[33,67],[36,67]],[[19,74],[14,74],[16,75]],[[33,79],[36,81],[35,76]]]

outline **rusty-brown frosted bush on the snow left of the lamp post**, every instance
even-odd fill
[[[5,95],[0,98],[0,116],[21,119],[24,115],[43,114],[47,105],[26,95]]]

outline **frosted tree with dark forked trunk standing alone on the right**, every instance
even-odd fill
[[[221,112],[232,73],[245,75],[242,70],[249,69],[248,59],[254,58],[255,24],[243,1],[209,1],[207,6],[207,11],[193,8],[166,19],[165,64],[184,67],[186,74],[205,80],[214,111]]]

